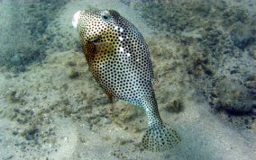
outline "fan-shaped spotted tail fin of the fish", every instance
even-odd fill
[[[163,124],[150,126],[142,138],[142,147],[154,152],[165,151],[181,142],[178,132]]]

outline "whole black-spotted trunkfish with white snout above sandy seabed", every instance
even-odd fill
[[[142,33],[114,10],[83,10],[73,15],[90,72],[108,98],[130,102],[147,115],[142,149],[162,152],[181,142],[164,124],[155,98],[151,53]]]

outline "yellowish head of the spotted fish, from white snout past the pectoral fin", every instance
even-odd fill
[[[98,59],[105,61],[118,54],[116,50],[123,42],[123,37],[129,37],[129,32],[134,28],[114,10],[78,11],[73,15],[72,23],[78,30],[90,67],[95,66],[92,63]]]

